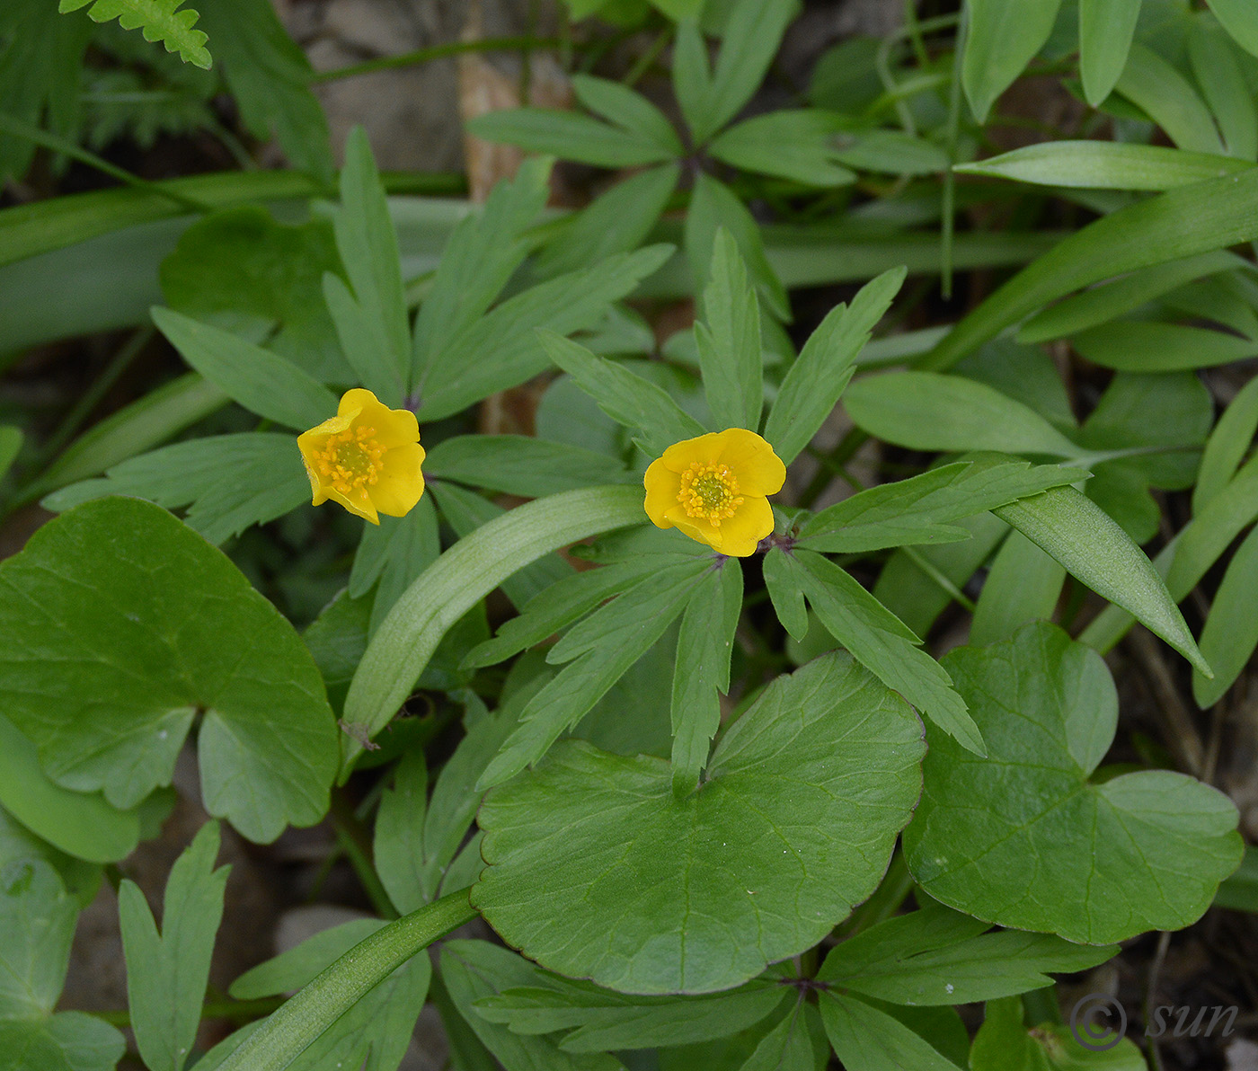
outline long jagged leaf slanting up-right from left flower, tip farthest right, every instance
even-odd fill
[[[460,331],[440,351],[440,360],[430,364],[423,404],[416,410],[419,419],[429,422],[458,413],[545,371],[548,360],[538,328],[570,335],[594,327],[613,302],[632,293],[671,254],[671,245],[648,245],[504,301]]]

